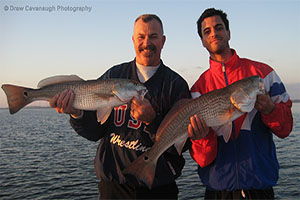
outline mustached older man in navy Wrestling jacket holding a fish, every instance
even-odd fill
[[[134,24],[132,41],[136,58],[113,66],[100,79],[140,81],[148,89],[143,100],[135,98],[130,105],[115,108],[103,125],[97,122],[95,112],[76,110],[71,106],[72,91],[57,95],[50,105],[58,112],[71,114],[71,126],[79,135],[92,141],[101,139],[95,157],[101,199],[176,199],[175,179],[181,174],[184,158],[174,147],[159,159],[151,190],[138,180],[129,181],[121,172],[154,144],[156,130],[172,105],[181,98],[190,97],[186,81],[161,60],[166,36],[159,17],[139,16]],[[135,145],[128,148],[118,141]]]

